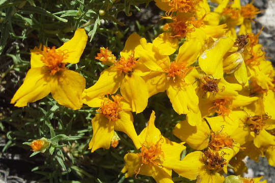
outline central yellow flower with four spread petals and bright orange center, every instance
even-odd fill
[[[152,43],[137,46],[141,62],[151,70],[143,77],[149,96],[167,90],[167,95],[178,114],[198,113],[199,101],[193,85],[198,72],[191,65],[196,62],[202,44],[196,39],[186,40],[172,63],[168,56],[155,51]]]

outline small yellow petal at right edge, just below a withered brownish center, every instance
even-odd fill
[[[254,145],[258,148],[275,145],[275,136],[269,134],[266,130],[261,130],[254,138]]]

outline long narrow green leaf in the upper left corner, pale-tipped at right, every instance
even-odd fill
[[[62,21],[62,22],[68,22],[67,19],[58,17],[56,15],[53,15],[51,12],[49,12],[49,11],[47,11],[47,10],[41,8],[41,7],[24,6],[24,8],[20,11],[22,13],[25,13],[25,14],[38,13],[38,14],[45,15],[45,16],[48,16],[48,17],[51,17],[51,18],[55,18],[55,19],[57,19],[59,21]]]

